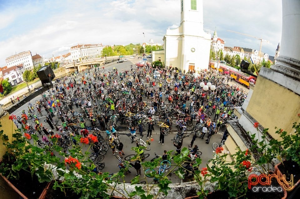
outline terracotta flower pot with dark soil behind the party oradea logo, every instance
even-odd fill
[[[291,171],[291,173],[289,172]],[[293,175],[294,184],[291,186],[290,184],[283,181],[285,187],[288,188],[288,192],[292,191],[299,183],[300,183],[300,167],[297,165],[297,163],[294,163],[292,161],[283,161],[282,163],[279,163],[275,165],[275,174],[277,174],[279,177],[283,177],[285,175],[285,179],[288,178],[290,181],[290,175]],[[297,173],[296,173],[297,172]],[[297,181],[297,182],[296,182]]]

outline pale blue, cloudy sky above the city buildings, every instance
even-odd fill
[[[79,44],[163,43],[168,27],[180,25],[180,0],[0,0],[0,66],[30,50],[49,58]],[[281,41],[280,0],[203,0],[204,31],[217,30],[225,46],[273,56]]]

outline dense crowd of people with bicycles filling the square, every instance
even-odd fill
[[[159,71],[160,77],[154,78],[154,71]],[[171,66],[164,69],[154,69],[149,65],[134,69],[131,66],[130,70],[113,68],[108,71],[104,67],[92,67],[57,79],[53,90],[49,90],[36,102],[37,113],[42,114],[40,107],[46,110],[45,122],[51,129],[40,126],[39,119],[32,113],[32,105],[28,108],[28,115],[23,110],[18,121],[24,124],[22,120],[27,116],[34,117],[36,130],[47,136],[54,136],[53,130],[57,127],[62,139],[69,139],[76,145],[78,143],[72,137],[81,134],[88,138],[93,129],[99,128],[108,135],[107,144],[112,149],[112,154],[116,155],[118,152],[122,159],[125,153],[124,145],[117,135],[119,121],[127,125],[131,136],[137,136],[137,131],[139,135],[147,132],[149,139],[153,137],[154,129],[159,130],[158,143],[161,144],[165,143],[167,131],[163,126],[167,126],[168,131],[176,126],[177,135],[173,146],[176,147],[176,153],[181,153],[183,135],[187,133],[188,124],[203,124],[200,138],[207,135],[208,144],[211,136],[218,133],[220,127],[231,119],[233,106],[242,105],[247,93],[238,85],[229,85],[229,80],[229,76],[212,69],[195,73]],[[205,85],[211,82],[216,89],[204,91],[201,82]],[[55,117],[61,120],[61,125],[57,122],[54,124]],[[174,120],[177,121],[175,124]],[[70,125],[77,122],[80,122],[78,128]],[[30,126],[27,122],[25,124]],[[192,148],[189,155],[192,162],[186,167],[187,175],[195,169],[193,160],[197,158],[198,147],[193,144],[198,136],[194,133],[189,145]],[[42,136],[42,140],[49,142],[46,136]],[[139,144],[136,143],[138,147]],[[95,153],[99,150],[99,147],[94,147]],[[139,153],[142,156],[143,150]],[[130,165],[136,169],[137,175],[141,174],[139,161]],[[118,167],[125,167],[123,161],[119,162]]]

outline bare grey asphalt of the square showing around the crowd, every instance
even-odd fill
[[[105,66],[105,69],[113,69],[113,67],[116,67],[116,68],[118,68],[119,71],[122,70],[122,69],[130,70],[130,65],[132,64],[135,67],[135,63],[138,60],[140,60],[140,59],[135,58],[135,59],[129,59],[129,61],[123,62],[123,63],[116,63],[116,62],[109,63]],[[150,61],[150,60],[147,59],[147,61]],[[92,71],[93,70],[91,70],[91,75],[92,75]],[[77,79],[79,79],[79,77]],[[69,92],[72,92],[72,90],[71,91],[69,90]],[[70,93],[70,94],[72,94],[72,93]],[[36,98],[32,99],[31,103],[34,104],[35,100],[39,100],[39,99],[41,99],[41,96],[37,96]],[[14,111],[12,114],[14,114],[16,116],[21,116],[22,109],[24,109],[27,113],[27,109],[28,109],[27,105],[28,104],[24,104],[19,109]],[[40,119],[40,123],[42,123],[44,127],[49,128],[48,124],[44,122],[45,115],[46,115],[45,110],[42,111],[42,114],[43,114],[43,116]],[[61,124],[61,121],[57,117],[54,117],[53,119],[58,125]],[[30,121],[30,123],[32,123],[32,122]],[[126,130],[125,127],[123,127],[123,128],[121,127],[120,129],[121,129],[119,131],[120,132],[120,140],[124,144],[124,148],[123,148],[123,151],[125,153],[124,157],[126,157],[129,154],[134,154],[134,151],[131,151],[131,148],[135,147],[136,144],[131,143],[131,140],[129,139],[130,132],[128,130]],[[151,160],[154,157],[154,152],[156,152],[158,155],[162,155],[164,150],[167,150],[167,151],[173,150],[172,154],[174,154],[174,151],[175,151],[175,147],[173,146],[173,141],[171,141],[171,139],[173,139],[173,137],[176,136],[176,132],[173,132],[173,133],[171,132],[167,136],[165,136],[165,143],[164,143],[164,145],[162,145],[162,143],[158,143],[158,141],[159,141],[159,127],[154,126],[154,129],[155,130],[152,133],[152,135],[153,135],[152,138],[154,140],[151,142],[151,145],[150,145],[151,150],[150,151],[145,151],[145,153],[150,154],[150,156],[146,160]],[[176,129],[176,127],[173,127],[173,129]],[[58,133],[58,131],[56,131],[56,130],[53,130],[53,131],[54,131],[54,133]],[[222,134],[223,134],[224,131],[225,131],[225,128],[220,129],[218,134],[213,135],[211,137],[211,140],[210,140],[209,144],[205,143],[206,136],[205,136],[204,139],[196,138],[196,140],[194,142],[194,145],[197,144],[198,147],[199,147],[199,150],[202,152],[202,155],[201,155],[202,164],[200,165],[200,168],[206,167],[207,161],[209,159],[213,158],[212,143],[214,143],[214,142],[220,143],[220,141],[222,139]],[[145,133],[147,133],[147,132],[144,129],[143,134],[145,134]],[[138,133],[137,133],[137,135],[138,135]],[[41,139],[41,135],[38,135],[38,136]],[[103,132],[103,137],[105,137],[104,132]],[[147,140],[146,135],[143,137],[143,140],[144,141]],[[191,140],[192,140],[192,136],[189,136],[189,137],[185,138],[183,140],[183,147],[187,147],[187,145],[191,142]],[[88,145],[83,146],[82,143],[79,143],[79,145],[82,146],[83,153],[84,153],[85,150],[88,149]],[[70,146],[69,148],[71,149],[72,146]],[[89,149],[89,152],[92,152],[92,150]],[[108,149],[107,154],[105,155],[105,158],[104,158],[103,162],[105,163],[105,168],[102,170],[102,172],[110,172],[110,173],[118,172],[118,170],[119,170],[119,168],[117,166],[118,161],[117,161],[116,157],[113,155],[112,150],[110,148]],[[131,170],[132,173],[127,174],[127,176],[125,178],[126,182],[130,182],[130,180],[133,177],[136,176],[135,169],[130,168],[130,170]],[[141,181],[145,181],[145,179],[143,179],[144,178],[143,171],[142,171],[142,175],[141,175],[140,178],[141,178]],[[169,179],[173,183],[180,182],[180,179],[176,175],[170,176]],[[152,179],[147,179],[147,182],[151,183]]]

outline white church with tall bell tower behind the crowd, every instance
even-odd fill
[[[178,28],[168,28],[163,37],[165,65],[181,70],[208,68],[211,35],[203,31],[202,0],[181,0]]]

